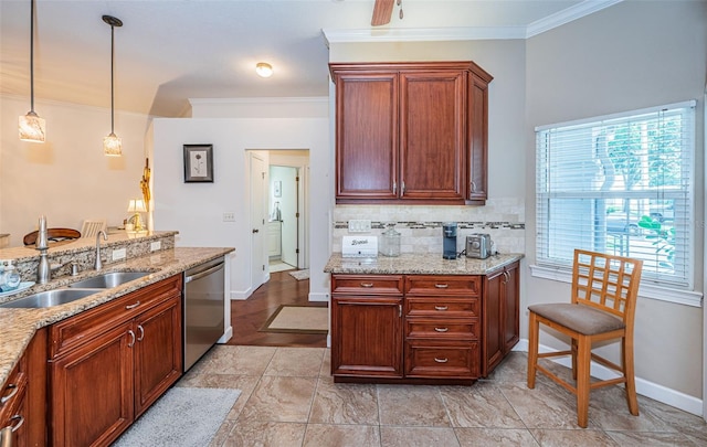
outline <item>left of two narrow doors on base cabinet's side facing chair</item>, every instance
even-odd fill
[[[483,376],[487,376],[504,356],[502,288],[503,270],[486,277],[483,304]]]

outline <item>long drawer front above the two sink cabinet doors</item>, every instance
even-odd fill
[[[50,327],[50,358],[81,345],[107,329],[181,295],[181,275],[155,283]]]

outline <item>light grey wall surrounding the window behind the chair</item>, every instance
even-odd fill
[[[528,40],[526,213],[528,263],[535,262],[535,141],[540,125],[698,99],[695,215],[704,213],[704,100],[707,2],[629,1]],[[701,291],[703,222],[695,222],[696,289]],[[525,301],[566,301],[569,285],[526,275]],[[521,315],[527,334],[526,312]],[[640,298],[635,323],[639,392],[700,413],[703,311]],[[560,344],[541,337],[541,342]],[[618,351],[608,352],[614,360]]]

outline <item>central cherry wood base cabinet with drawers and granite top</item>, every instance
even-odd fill
[[[471,384],[519,340],[521,254],[333,254],[335,382]]]

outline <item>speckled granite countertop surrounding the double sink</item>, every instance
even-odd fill
[[[110,264],[101,270],[101,274],[126,270],[152,272],[150,275],[140,279],[61,306],[42,309],[0,308],[0,386],[4,385],[10,372],[20,360],[38,329],[180,274],[191,267],[215,259],[233,251],[234,248],[184,247],[155,252],[149,255],[127,259],[123,263]],[[71,283],[96,275],[98,275],[98,273],[95,270],[86,270],[78,276],[60,277],[43,285],[35,285],[13,296],[12,299],[32,295],[36,291],[64,287]]]

